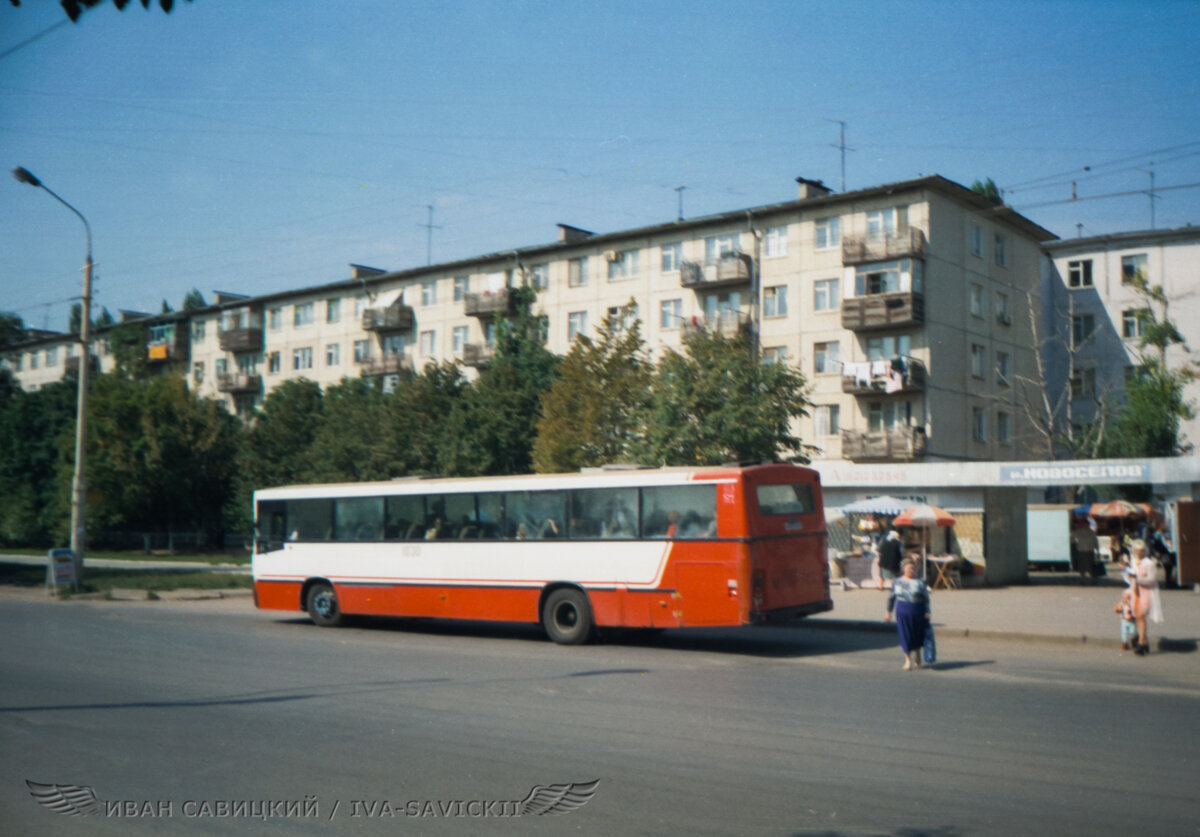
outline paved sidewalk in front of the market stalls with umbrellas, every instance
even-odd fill
[[[1031,573],[1030,584],[1007,588],[935,590],[931,614],[938,637],[980,637],[1025,642],[1120,646],[1121,620],[1112,607],[1123,583],[1103,578],[1084,586],[1078,576]],[[1187,651],[1200,643],[1200,595],[1162,590],[1160,625],[1150,624],[1151,645]],[[884,622],[888,594],[876,588],[833,588],[830,613],[811,616],[810,627],[895,631]]]

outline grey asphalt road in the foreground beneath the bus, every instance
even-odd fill
[[[4,833],[1200,833],[1184,654],[961,639],[904,673],[878,633],[562,648],[244,601],[0,604]]]

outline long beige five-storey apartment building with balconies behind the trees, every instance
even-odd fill
[[[318,288],[218,294],[186,327],[146,325],[175,326],[191,385],[245,415],[290,378],[386,387],[428,361],[478,368],[511,290],[532,287],[558,354],[630,302],[655,357],[689,329],[754,330],[768,359],[808,377],[812,415],[798,429],[822,458],[1030,458],[1013,383],[1036,373],[1042,243],[1056,236],[936,175],[840,194],[797,182],[786,203],[602,235],[563,224],[542,246],[406,271],[352,266]],[[28,362],[18,377],[44,380]]]

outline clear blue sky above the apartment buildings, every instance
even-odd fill
[[[1165,229],[1200,223],[1198,42],[1163,0],[22,0],[0,168],[86,217],[114,315],[841,191],[842,158],[846,191],[991,177],[1061,237]],[[0,311],[65,330],[85,253],[0,180]]]

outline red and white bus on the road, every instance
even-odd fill
[[[344,615],[595,628],[779,622],[833,608],[816,471],[601,470],[265,488],[254,601]]]

